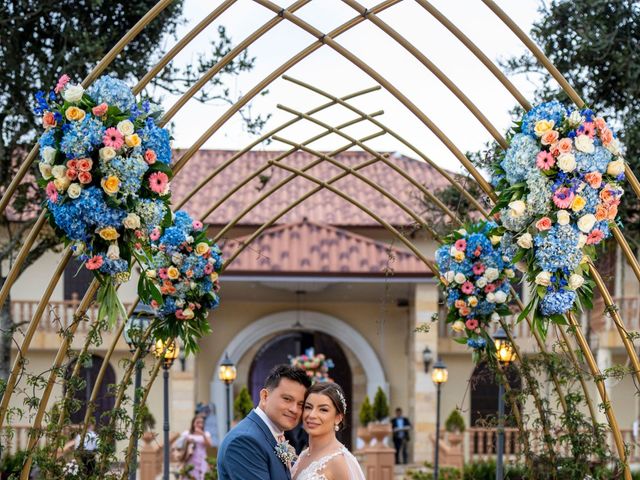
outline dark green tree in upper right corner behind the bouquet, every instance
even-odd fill
[[[531,37],[583,100],[602,113],[620,134],[626,160],[640,168],[640,9],[633,0],[555,0],[540,2]],[[540,85],[537,100],[566,95],[531,54],[511,58],[510,73],[523,73]],[[627,239],[640,238],[640,202],[627,189],[620,214]]]

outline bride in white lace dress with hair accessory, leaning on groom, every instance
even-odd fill
[[[336,383],[316,383],[307,390],[302,412],[309,448],[291,470],[293,480],[365,480],[356,458],[338,441],[347,401]]]

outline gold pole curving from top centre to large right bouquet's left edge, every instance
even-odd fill
[[[507,141],[504,139],[502,134],[498,132],[498,129],[494,127],[489,119],[480,111],[480,109],[467,97],[458,86],[451,81],[449,77],[445,75],[445,73],[440,70],[431,60],[429,60],[426,55],[420,52],[415,46],[411,44],[406,38],[404,38],[400,33],[394,30],[391,26],[385,23],[380,19],[375,13],[369,12],[368,9],[360,5],[356,0],[342,0],[344,3],[353,8],[356,12],[358,12],[363,17],[370,20],[374,25],[376,25],[380,30],[390,36],[393,40],[395,40],[399,45],[401,45],[405,50],[407,50],[415,59],[417,59],[422,65],[424,65],[435,77],[440,80],[440,82],[451,92],[453,93],[460,102],[473,114],[474,117],[480,122],[480,124],[489,132],[489,134],[495,139],[496,142],[500,144],[500,146],[504,149],[507,148]]]

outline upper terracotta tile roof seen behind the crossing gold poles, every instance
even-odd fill
[[[182,153],[183,151],[177,150],[175,152],[176,158],[180,158]],[[177,203],[178,200],[184,198],[200,181],[206,178],[207,175],[225,160],[233,156],[234,153],[234,151],[230,150],[198,151],[172,182],[174,202]],[[204,214],[208,208],[231,188],[260,167],[266,165],[269,159],[273,159],[281,153],[282,152],[277,151],[251,151],[246,153],[237,159],[230,167],[213,178],[184,208],[196,216]],[[336,156],[336,159],[347,167],[355,167],[369,158],[370,155],[363,151],[347,151]],[[302,168],[314,159],[315,157],[306,152],[297,152],[286,158],[284,163],[292,167]],[[446,180],[444,180],[433,167],[423,161],[414,160],[398,154],[390,154],[389,159],[411,175],[412,178],[426,185],[431,191],[439,190],[447,186]],[[322,162],[309,170],[308,173],[322,180],[328,180],[340,172],[342,172],[342,170],[339,167],[328,162]],[[371,178],[383,188],[386,188],[401,201],[406,202],[414,211],[418,213],[422,211],[420,192],[388,166],[377,162],[362,169],[360,173]],[[268,167],[263,174],[270,176],[264,189],[261,190],[262,184],[258,178],[251,180],[248,185],[241,188],[229,200],[224,202],[221,207],[213,212],[206,221],[213,225],[228,223],[236,214],[257,199],[263,192],[266,192],[281,179],[290,175],[290,172],[271,166]],[[262,225],[275,215],[276,212],[286,208],[292,201],[295,201],[315,186],[315,183],[307,179],[294,179],[246,215],[240,222],[240,225]],[[411,223],[410,217],[399,207],[357,178],[347,176],[336,182],[335,186],[353,196],[392,224],[401,225]],[[308,198],[301,205],[284,215],[277,223],[296,223],[302,221],[304,218],[328,225],[378,225],[377,222],[366,213],[326,189]]]

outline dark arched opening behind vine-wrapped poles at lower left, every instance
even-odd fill
[[[78,378],[83,381],[83,384],[80,388],[77,388],[73,395],[74,403],[76,403],[79,408],[75,411],[72,411],[69,415],[71,419],[71,423],[80,424],[84,422],[84,416],[87,411],[87,404],[91,399],[91,392],[93,391],[93,386],[95,385],[96,378],[98,376],[98,372],[102,367],[102,362],[104,359],[99,355],[92,355],[89,360],[87,360],[84,365],[80,367],[80,372],[78,373]],[[70,378],[73,369],[75,368],[76,362],[73,361],[67,367],[67,371],[65,373],[65,378]],[[100,425],[105,425],[108,422],[107,415],[111,410],[113,410],[113,406],[115,405],[115,397],[112,394],[109,394],[109,388],[111,385],[116,383],[116,373],[111,364],[107,365],[107,371],[105,372],[104,379],[100,384],[100,391],[98,393],[98,397],[96,398],[95,408],[93,411],[93,418],[96,421],[96,425],[99,427]],[[68,388],[69,382],[65,382],[65,389]]]

